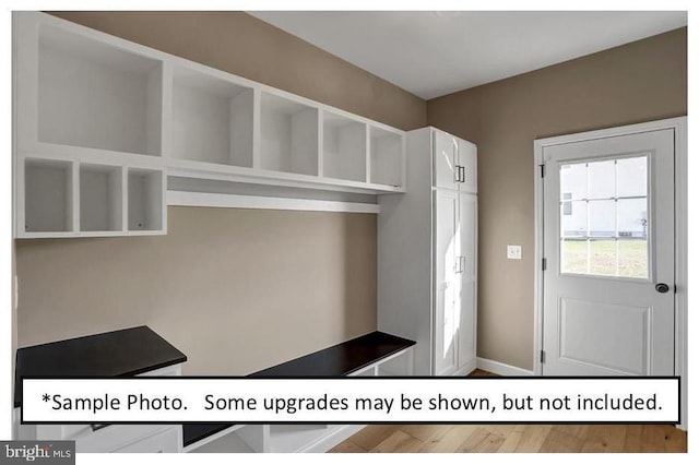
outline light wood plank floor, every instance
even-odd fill
[[[370,425],[330,452],[687,452],[687,433],[672,425]]]

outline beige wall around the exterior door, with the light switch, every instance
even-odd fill
[[[478,145],[479,357],[533,368],[534,140],[686,114],[686,28],[427,103]]]

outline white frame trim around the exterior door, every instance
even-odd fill
[[[682,377],[679,428],[687,429],[687,117],[670,118],[607,128],[596,131],[579,132],[534,141],[534,374],[543,374],[540,354],[544,336],[544,178],[542,165],[544,148],[552,145],[584,142],[594,139],[629,135],[640,132],[672,129],[675,134],[675,375]]]

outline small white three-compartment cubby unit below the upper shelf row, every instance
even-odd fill
[[[35,156],[21,163],[24,220],[17,237],[164,231],[162,169]]]

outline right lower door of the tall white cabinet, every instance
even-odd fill
[[[476,270],[477,198],[461,193],[459,199],[459,351],[458,366],[475,368],[476,359]]]

